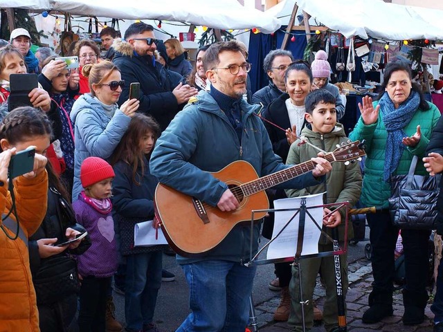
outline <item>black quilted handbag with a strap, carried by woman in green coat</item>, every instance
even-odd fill
[[[390,217],[399,228],[435,230],[440,176],[415,175],[417,160],[414,156],[407,175],[391,176]]]

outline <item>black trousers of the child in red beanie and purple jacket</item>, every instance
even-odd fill
[[[84,277],[80,288],[80,311],[78,326],[80,332],[105,332],[106,302],[111,277]]]

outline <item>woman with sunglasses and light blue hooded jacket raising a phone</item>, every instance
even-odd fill
[[[87,64],[82,74],[89,79],[91,93],[81,95],[71,111],[75,128],[73,201],[82,191],[80,165],[83,160],[89,156],[109,158],[140,104],[132,99],[118,108],[116,102],[125,81],[121,80],[120,71],[112,62]]]

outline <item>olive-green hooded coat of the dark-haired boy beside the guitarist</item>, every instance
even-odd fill
[[[309,129],[308,124],[302,130],[302,136],[307,138],[307,141],[316,147],[320,147],[327,152],[332,152],[336,149],[336,145],[341,145],[341,143],[347,143],[348,138],[345,135],[343,129],[343,124],[337,123],[334,130],[330,133],[320,134]],[[299,164],[305,161],[311,160],[311,158],[316,157],[318,150],[311,147],[308,144],[298,145],[300,140],[291,145],[289,151],[289,156],[287,158],[287,164]],[[315,185],[311,187],[305,187],[300,190],[288,189],[285,190],[288,197],[300,197],[310,194],[320,194],[321,192],[326,192],[326,201],[323,203],[335,203],[335,202],[349,202],[350,208],[354,206],[357,201],[359,201],[361,193],[361,170],[359,163],[350,163],[345,165],[345,163],[333,163],[332,171],[326,174],[326,181],[321,185]],[[329,208],[329,210],[333,210]],[[341,211],[341,225],[338,226],[338,237],[341,241],[345,239],[345,208]],[[317,221],[319,222],[319,221]],[[352,223],[349,220],[347,228],[347,239],[352,239],[354,237],[354,229],[352,228]],[[327,232],[331,236],[331,229],[323,226],[323,231]],[[327,238],[322,236],[320,238],[320,244],[326,244]]]

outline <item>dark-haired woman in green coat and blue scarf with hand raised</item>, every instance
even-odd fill
[[[426,145],[440,112],[426,102],[419,86],[411,82],[408,64],[390,63],[383,77],[383,90],[376,102],[366,96],[359,104],[361,117],[351,140],[365,140],[366,160],[361,203],[380,208],[381,212],[367,214],[372,246],[372,292],[370,308],[363,314],[366,324],[379,322],[392,315],[395,243],[399,228],[392,225],[388,210],[390,176],[408,174],[413,156],[425,155]],[[426,175],[422,161],[415,174]],[[420,324],[428,301],[428,239],[431,230],[402,229],[406,286],[403,291],[403,323]]]

